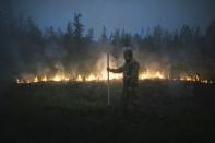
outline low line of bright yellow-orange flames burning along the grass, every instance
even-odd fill
[[[110,80],[121,80],[122,74],[110,73]],[[200,82],[205,84],[213,84],[212,80],[202,79],[198,74],[181,74],[179,78],[170,79],[167,73],[162,71],[151,71],[146,70],[145,72],[141,72],[139,79],[142,80],[169,80],[169,81],[186,81],[186,82]],[[69,81],[77,81],[77,82],[91,82],[91,81],[106,81],[107,73],[100,72],[97,74],[91,73],[88,75],[70,76],[67,73],[58,73],[52,76],[50,75],[32,75],[23,79],[16,79],[17,84],[22,83],[37,83],[37,82],[69,82]]]

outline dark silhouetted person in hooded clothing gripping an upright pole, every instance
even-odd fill
[[[139,62],[133,59],[131,49],[123,51],[124,64],[118,69],[107,68],[114,73],[123,73],[122,111],[128,112],[130,105],[136,106],[139,84]]]

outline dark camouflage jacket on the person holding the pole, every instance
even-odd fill
[[[123,73],[123,87],[136,87],[139,82],[139,62],[131,60],[118,69],[112,69],[114,73]]]

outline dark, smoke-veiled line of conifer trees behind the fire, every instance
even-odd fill
[[[84,26],[81,13],[73,15],[65,29],[50,26],[41,31],[33,19],[14,16],[10,5],[1,5],[0,10],[1,73],[10,78],[43,74],[39,69],[47,72],[75,69],[85,73],[100,53],[110,51],[118,59],[123,47],[136,51],[141,63],[157,61],[172,74],[196,71],[214,78],[215,20],[205,32],[189,25],[170,32],[157,25],[135,34],[119,28],[107,34],[104,26],[95,39],[94,29]]]

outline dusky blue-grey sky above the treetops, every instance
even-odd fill
[[[33,16],[41,27],[65,27],[74,12],[83,14],[86,28],[100,35],[103,26],[108,32],[124,28],[140,32],[142,27],[157,24],[175,29],[183,24],[203,29],[215,17],[214,0],[13,0],[15,9]]]

